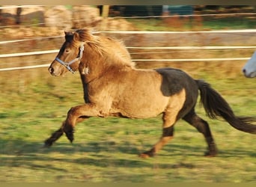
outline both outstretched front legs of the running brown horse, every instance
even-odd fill
[[[97,108],[91,104],[79,105],[70,108],[70,110],[67,112],[67,119],[64,120],[61,128],[55,131],[52,136],[45,141],[45,146],[50,147],[64,133],[70,142],[73,142],[73,132],[76,123],[79,123],[88,117],[97,115],[99,115]]]

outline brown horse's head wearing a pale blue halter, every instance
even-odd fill
[[[81,34],[81,31],[85,30],[64,32],[65,42],[48,69],[52,76],[61,76],[68,70],[72,73],[78,70],[85,44],[85,36]]]

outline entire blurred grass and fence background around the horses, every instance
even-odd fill
[[[196,139],[198,132],[190,133],[195,129],[186,129],[190,126],[177,130],[183,138],[177,138],[174,148],[170,144],[167,150],[171,152],[163,150],[155,161],[134,159],[159,138],[158,117],[129,122],[90,118],[90,123],[78,127],[73,148],[61,138],[53,150],[40,150],[43,141],[61,126],[68,109],[84,102],[79,73],[52,77],[47,68],[64,43],[64,31],[85,27],[123,40],[136,67],[180,68],[209,82],[235,114],[256,115],[256,81],[241,72],[256,49],[254,6],[0,6],[0,171],[4,171],[0,181],[67,181],[67,175],[75,181],[256,179],[255,136],[222,127],[224,122],[218,120],[211,128],[222,151],[214,162],[202,159],[204,140]],[[203,108],[198,113],[204,117]],[[137,126],[144,122],[147,128]],[[91,159],[84,160],[84,155]],[[173,168],[181,172],[166,173]],[[140,177],[135,176],[137,172]]]

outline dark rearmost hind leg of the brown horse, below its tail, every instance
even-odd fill
[[[183,117],[183,120],[186,120],[186,122],[192,126],[195,126],[195,128],[198,129],[198,132],[201,132],[204,135],[208,145],[208,151],[205,153],[205,156],[216,156],[218,150],[216,148],[216,144],[214,143],[213,135],[210,132],[210,127],[207,121],[201,119],[201,117],[198,117],[193,110],[190,111],[189,114],[186,114],[186,116]]]

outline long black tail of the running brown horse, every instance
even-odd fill
[[[256,121],[255,117],[237,117],[232,111],[228,102],[207,82],[203,80],[195,80],[198,84],[198,88],[201,96],[201,103],[204,105],[204,110],[206,111],[208,117],[211,119],[216,119],[217,117],[222,117],[235,129],[243,132],[249,132],[256,134],[256,125],[252,122]]]

